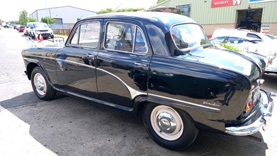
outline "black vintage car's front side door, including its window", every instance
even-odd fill
[[[98,98],[95,58],[100,49],[102,20],[75,25],[66,46],[57,51],[57,80],[69,94]]]

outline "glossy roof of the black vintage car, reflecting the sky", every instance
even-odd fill
[[[169,12],[113,12],[100,15],[92,15],[89,17],[84,17],[82,20],[86,19],[134,19],[136,21],[152,21],[152,23],[166,24],[171,26],[177,23],[197,23],[193,19],[186,17],[184,15],[178,15]]]

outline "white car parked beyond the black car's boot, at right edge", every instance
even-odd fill
[[[226,40],[226,44],[235,46],[243,52],[249,51],[262,55],[268,60],[265,73],[277,73],[277,47],[275,46],[277,40],[273,36],[241,29],[218,28],[215,29],[211,40],[217,45],[220,45],[220,40]]]

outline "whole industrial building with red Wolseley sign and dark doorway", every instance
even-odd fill
[[[201,24],[207,35],[215,28],[243,28],[277,35],[277,0],[167,0],[152,8],[176,7]]]

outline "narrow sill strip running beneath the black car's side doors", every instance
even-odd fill
[[[98,100],[98,99],[96,99],[96,98],[90,98],[90,97],[88,97],[88,96],[83,96],[83,95],[78,94],[78,93],[65,91],[65,90],[63,90],[63,89],[60,89],[59,91],[60,91],[60,92],[64,92],[64,93],[66,93],[66,94],[71,94],[71,95],[73,95],[73,96],[77,96],[77,97],[80,97],[80,98],[84,98],[84,99],[87,99],[87,100],[89,100],[89,101],[93,101],[93,102],[96,102],[96,103],[100,103],[100,104],[102,104],[102,105],[108,105],[108,106],[111,106],[111,107],[116,107],[116,108],[118,108],[118,109],[120,109],[120,110],[125,110],[125,111],[128,111],[128,112],[132,112],[132,111],[134,110],[133,108],[130,108],[130,107],[124,107],[124,106],[122,106],[122,105],[116,105],[116,104],[114,104],[114,103],[109,103],[109,102],[106,102],[106,101],[101,101],[101,100]]]

